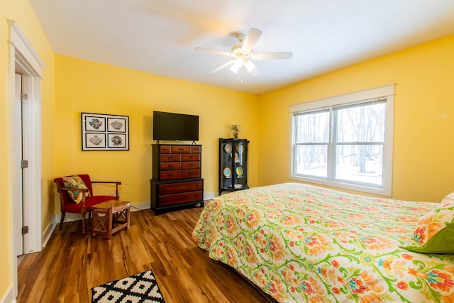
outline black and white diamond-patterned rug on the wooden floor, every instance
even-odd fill
[[[164,303],[151,270],[92,288],[92,303]]]

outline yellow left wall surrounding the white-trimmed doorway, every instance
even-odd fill
[[[28,41],[40,60],[44,62],[43,85],[42,85],[42,116],[46,121],[43,124],[43,229],[49,223],[50,217],[54,214],[53,205],[49,201],[47,180],[53,175],[53,102],[54,102],[54,53],[43,33],[40,23],[35,16],[28,0],[0,1],[0,201],[2,214],[11,214],[11,129],[10,106],[9,106],[9,26],[7,19],[16,21],[21,31],[26,35]],[[6,143],[6,144],[4,144]],[[0,299],[9,292],[13,286],[13,264],[11,263],[11,216],[3,216],[0,220]]]

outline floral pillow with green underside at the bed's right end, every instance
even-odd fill
[[[411,239],[413,243],[404,248],[419,253],[454,253],[454,192],[421,216]]]

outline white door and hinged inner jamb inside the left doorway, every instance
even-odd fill
[[[41,250],[40,83],[20,65],[16,65],[14,82],[11,121],[13,250],[21,255]],[[24,165],[25,161],[27,165]]]

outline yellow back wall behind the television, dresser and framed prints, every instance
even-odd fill
[[[199,115],[205,194],[218,192],[218,138],[232,137],[231,124],[240,124],[240,137],[250,140],[249,183],[258,185],[257,96],[62,55],[55,61],[56,176],[119,180],[121,199],[149,202],[157,110]],[[81,112],[129,116],[130,150],[82,151]],[[109,190],[99,187],[97,193]]]

